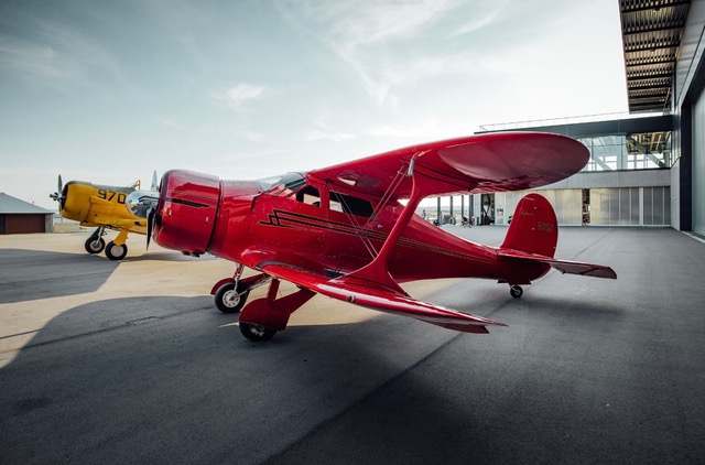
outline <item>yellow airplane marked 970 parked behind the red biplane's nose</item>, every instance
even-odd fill
[[[126,205],[128,196],[142,199],[141,205],[154,206],[159,201],[156,187],[156,172],[152,176],[150,191],[139,191],[140,182],[128,187],[106,186],[82,181],[69,181],[62,185],[62,176],[58,175],[58,191],[50,194],[50,197],[58,202],[58,213],[67,219],[79,221],[80,226],[97,227],[96,231],[86,240],[85,248],[88,253],[100,253],[104,249],[110,260],[122,260],[128,255],[128,234],[147,234],[147,213],[144,217],[134,216]],[[102,239],[106,228],[119,231],[118,237],[109,241]]]

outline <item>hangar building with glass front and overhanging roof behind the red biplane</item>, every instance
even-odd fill
[[[589,149],[581,173],[538,190],[561,225],[673,227],[705,236],[705,0],[619,6],[628,115],[488,125],[478,133],[549,131]],[[451,214],[455,203],[476,224],[507,224],[527,193],[452,198]]]

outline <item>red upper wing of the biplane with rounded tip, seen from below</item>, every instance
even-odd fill
[[[424,143],[314,170],[310,176],[382,196],[397,174],[415,159],[414,173],[433,184],[427,195],[458,192],[522,191],[552,184],[585,166],[589,152],[565,136],[497,132]],[[409,198],[412,179],[403,177],[394,198]]]

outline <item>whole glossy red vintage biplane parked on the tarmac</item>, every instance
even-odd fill
[[[538,194],[519,202],[499,248],[448,234],[416,215],[416,207],[427,196],[551,184],[578,172],[588,156],[582,143],[567,137],[507,132],[420,144],[260,181],[221,181],[173,170],[162,177],[148,226],[163,247],[238,263],[234,277],[220,280],[212,293],[220,311],[241,310],[240,331],[250,340],[284,329],[290,315],[315,294],[487,333],[486,326],[503,324],[415,300],[399,284],[486,278],[509,284],[518,298],[521,285],[552,267],[562,273],[617,275],[609,267],[553,258],[558,226],[551,204]],[[258,273],[243,277],[245,267]],[[281,280],[299,290],[278,295]],[[268,282],[267,296],[246,306],[250,290]]]

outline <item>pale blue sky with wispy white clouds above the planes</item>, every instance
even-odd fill
[[[50,209],[627,110],[615,0],[0,0],[0,192]]]

